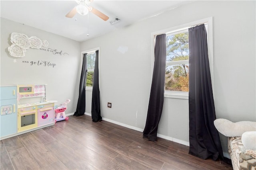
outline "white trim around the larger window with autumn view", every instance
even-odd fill
[[[212,17],[204,18],[202,20],[193,21],[190,23],[185,23],[179,26],[171,27],[168,29],[163,29],[160,31],[156,31],[151,33],[151,78],[153,77],[154,70],[154,48],[155,48],[155,39],[157,35],[161,34],[170,34],[170,32],[182,31],[184,28],[190,28],[195,25],[200,25],[202,23],[207,23],[207,45],[208,45],[208,57],[209,57],[209,65],[210,65],[210,74],[212,79],[212,92],[214,95],[214,75],[213,75],[213,25],[212,25]],[[188,99],[188,92],[175,92],[175,91],[164,91],[165,98],[178,98],[178,99]]]

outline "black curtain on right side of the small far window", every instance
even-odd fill
[[[99,88],[99,51],[96,51],[93,86],[92,86],[92,121],[101,121],[100,115],[100,88]]]

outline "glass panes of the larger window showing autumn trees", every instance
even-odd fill
[[[166,35],[165,90],[188,92],[188,29]]]

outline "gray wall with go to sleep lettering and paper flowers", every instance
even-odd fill
[[[12,57],[8,52],[8,47],[12,44],[10,35],[13,32],[46,39],[49,45],[43,47],[44,49],[57,49],[58,52],[62,51],[69,55],[54,55],[48,51],[30,48],[26,51],[25,57]],[[24,63],[24,61],[29,63]],[[37,64],[31,66],[31,61],[49,61],[56,66],[38,66]],[[76,109],[78,100],[80,62],[80,42],[1,18],[1,86],[48,84],[46,86],[47,100],[57,100],[56,105],[59,105],[70,99],[66,113],[72,113]],[[23,101],[20,100],[21,103]]]

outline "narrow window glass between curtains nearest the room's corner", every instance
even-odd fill
[[[87,61],[86,61],[87,62],[86,87],[92,87],[95,57],[96,57],[96,53],[95,52],[87,54]]]

